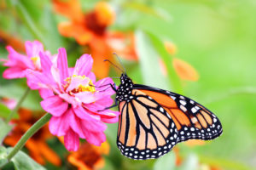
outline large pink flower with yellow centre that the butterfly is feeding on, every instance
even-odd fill
[[[67,67],[65,48],[59,49],[56,66],[44,54],[40,61],[43,72],[28,70],[27,78],[45,89],[41,105],[52,115],[49,131],[64,136],[67,150],[78,150],[79,138],[101,145],[106,140],[103,122],[117,122],[119,116],[118,111],[102,111],[113,104],[114,94],[110,86],[102,85],[113,84],[113,80],[107,77],[96,82],[89,54],[82,55],[73,69]]]

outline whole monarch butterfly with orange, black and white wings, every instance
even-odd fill
[[[113,106],[119,103],[121,113],[117,145],[124,156],[135,160],[154,159],[165,155],[179,142],[211,140],[223,132],[218,117],[193,99],[135,84],[126,71],[119,78],[119,88],[110,85],[116,92]]]

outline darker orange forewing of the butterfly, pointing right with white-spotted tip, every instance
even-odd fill
[[[193,99],[139,84],[133,88],[150,96],[172,117],[178,131],[177,142],[215,139],[223,132],[218,117]]]

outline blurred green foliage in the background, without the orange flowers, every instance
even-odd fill
[[[84,10],[90,10],[96,3],[81,2]],[[117,11],[117,20],[110,30],[135,32],[139,62],[124,60],[128,75],[137,83],[175,90],[195,99],[213,111],[223,124],[223,135],[212,142],[193,148],[178,144],[187,160],[178,169],[196,169],[196,162],[224,169],[256,168],[256,2],[113,0],[109,3]],[[38,39],[52,53],[65,47],[70,65],[82,54],[72,38],[58,33],[57,23],[63,18],[51,10],[49,0],[9,0],[5,5],[0,11],[1,31],[23,41]],[[199,72],[198,82],[180,81],[173,73],[172,57],[160,43],[166,40],[177,45],[177,58],[188,61]],[[0,53],[1,58],[7,57],[4,45]],[[168,77],[162,76],[155,66],[158,58],[166,62]],[[3,70],[0,66],[1,73]],[[111,71],[111,76],[117,75]],[[19,99],[25,89],[25,80],[0,78],[1,96]],[[33,92],[23,106],[40,110],[39,102],[38,92]],[[157,161],[131,161],[121,156],[115,144],[116,128],[117,124],[108,125],[111,151],[104,169],[174,168],[172,152]]]

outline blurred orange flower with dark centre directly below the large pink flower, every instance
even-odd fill
[[[71,153],[67,157],[73,166],[78,167],[79,170],[94,170],[104,167],[105,161],[102,155],[108,155],[108,142],[102,143],[101,146],[96,146],[84,142],[78,151]]]

